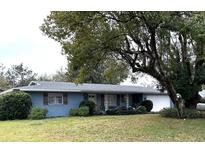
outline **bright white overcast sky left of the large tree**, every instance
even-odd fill
[[[9,67],[23,62],[39,74],[52,74],[66,67],[60,45],[39,29],[49,13],[47,9],[1,11],[0,63]]]

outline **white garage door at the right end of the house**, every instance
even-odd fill
[[[144,98],[153,102],[152,111],[160,111],[165,107],[171,107],[171,100],[167,95],[144,95]]]

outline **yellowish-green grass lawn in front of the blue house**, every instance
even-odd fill
[[[1,121],[0,141],[205,141],[205,120],[146,114]]]

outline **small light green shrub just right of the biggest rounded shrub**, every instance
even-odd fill
[[[33,119],[33,120],[45,119],[47,113],[48,113],[47,109],[43,109],[43,108],[39,108],[39,107],[33,107],[31,109],[31,113],[29,114],[28,118]]]

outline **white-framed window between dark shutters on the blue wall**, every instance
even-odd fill
[[[48,94],[48,104],[49,105],[63,104],[63,94],[49,93]]]

